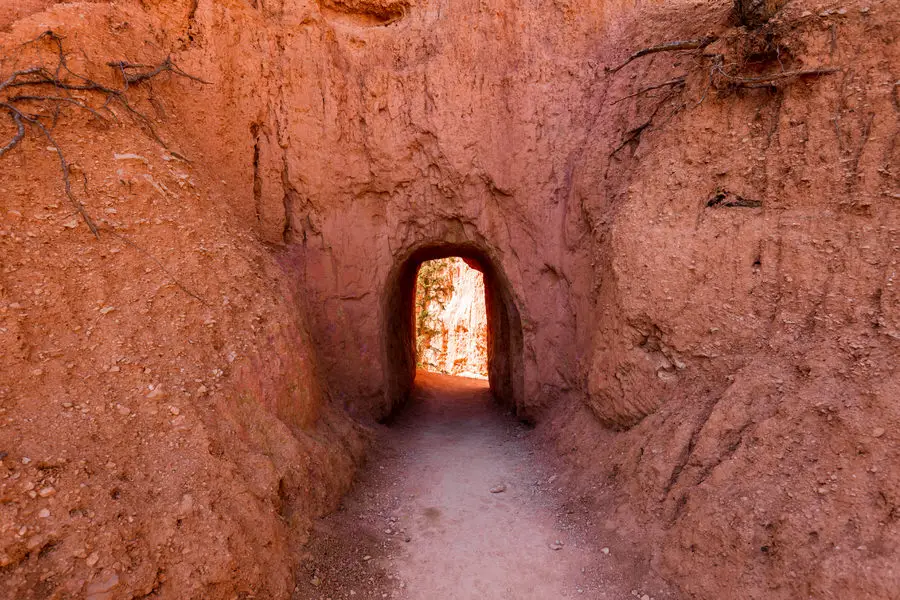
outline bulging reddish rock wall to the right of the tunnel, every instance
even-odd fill
[[[627,430],[578,456],[661,525],[689,596],[900,589],[897,8],[792,3],[748,32],[665,4],[604,50],[718,38],[608,74],[572,187],[587,404]]]

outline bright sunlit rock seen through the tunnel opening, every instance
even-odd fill
[[[460,257],[422,263],[416,277],[416,366],[487,379],[484,276]]]

